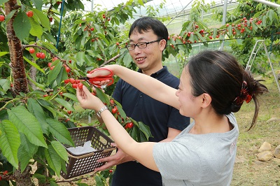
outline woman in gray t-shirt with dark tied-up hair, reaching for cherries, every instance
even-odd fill
[[[180,110],[192,117],[190,124],[171,142],[137,143],[118,124],[110,111],[87,88],[77,89],[83,108],[97,110],[113,140],[137,162],[160,171],[163,185],[230,185],[236,155],[238,127],[233,113],[253,99],[258,115],[258,94],[267,87],[254,80],[235,57],[223,51],[204,51],[190,59],[180,78],[179,90],[123,66],[107,69],[144,94]],[[106,76],[99,69],[89,78]],[[100,82],[104,84],[106,82]]]

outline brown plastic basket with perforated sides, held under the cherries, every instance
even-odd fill
[[[109,157],[113,150],[116,149],[116,147],[111,146],[113,142],[111,138],[95,127],[76,127],[68,130],[76,147],[83,146],[85,142],[91,141],[92,148],[96,149],[96,151],[77,156],[66,149],[69,163],[66,163],[66,173],[61,172],[64,179],[94,171],[97,167],[105,164],[105,162],[97,162],[97,159]],[[69,148],[70,146],[64,145],[64,147]]]

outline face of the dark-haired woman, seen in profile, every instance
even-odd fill
[[[193,96],[192,87],[190,85],[190,73],[188,66],[185,66],[180,78],[179,90],[176,91],[176,96],[179,97],[180,113],[188,117],[195,117],[200,112],[200,96]]]

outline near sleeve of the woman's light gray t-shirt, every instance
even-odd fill
[[[202,166],[197,152],[183,143],[156,143],[153,158],[162,177],[175,180],[200,180]]]

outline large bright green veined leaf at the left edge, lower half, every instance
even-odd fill
[[[18,148],[20,147],[20,134],[13,122],[3,120],[0,122],[0,148],[8,162],[18,169]]]

